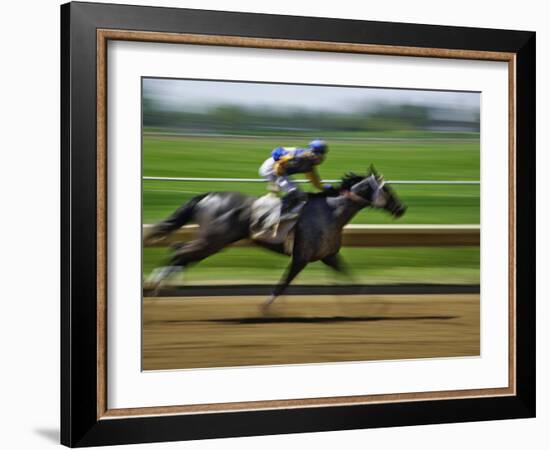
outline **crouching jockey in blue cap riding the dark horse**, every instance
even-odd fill
[[[321,184],[315,167],[325,160],[327,152],[326,142],[315,139],[306,148],[277,147],[261,165],[259,174],[269,181],[272,188],[286,194],[282,199],[281,219],[291,218],[289,212],[305,197],[289,175],[303,173],[319,190],[330,187]]]

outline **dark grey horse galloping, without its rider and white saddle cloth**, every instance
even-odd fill
[[[252,205],[256,200],[256,197],[238,192],[210,192],[192,198],[170,217],[154,225],[144,238],[146,242],[162,239],[191,221],[199,225],[199,233],[196,239],[174,248],[168,266],[156,269],[153,286],[158,288],[171,273],[207,258],[233,242],[249,238]],[[292,260],[266,305],[281,295],[310,262],[322,261],[342,271],[338,255],[342,229],[365,207],[382,208],[394,217],[402,216],[406,209],[372,166],[366,176],[347,174],[332,193],[309,194],[294,227],[292,248],[290,252],[287,249]],[[284,244],[257,244],[285,253]]]

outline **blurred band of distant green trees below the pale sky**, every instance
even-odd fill
[[[197,110],[167,107],[143,98],[143,125],[179,133],[280,134],[295,132],[326,136],[334,133],[396,131],[479,132],[479,109],[457,106],[376,104],[349,112],[218,104]]]

